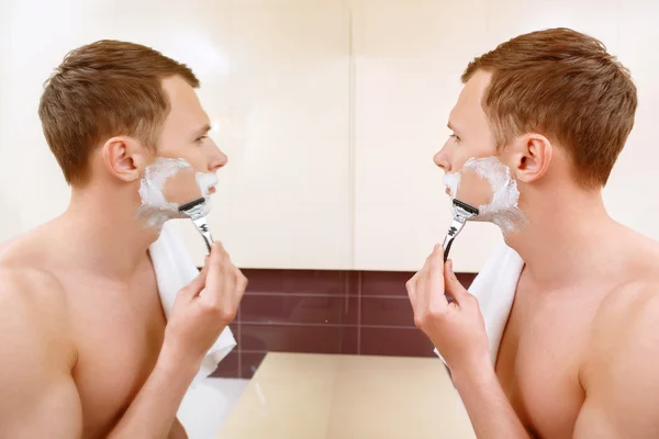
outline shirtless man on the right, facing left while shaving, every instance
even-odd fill
[[[634,124],[628,72],[559,29],[500,45],[462,81],[435,162],[455,172],[496,156],[528,218],[505,236],[525,267],[495,367],[478,301],[442,248],[407,292],[477,436],[659,437],[659,246],[614,222],[601,191]]]

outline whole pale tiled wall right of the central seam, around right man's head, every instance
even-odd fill
[[[448,200],[433,154],[468,61],[521,33],[567,26],[591,34],[639,87],[636,127],[605,191],[612,215],[659,238],[652,121],[659,116],[659,44],[651,0],[355,0],[355,268],[416,270],[444,237]],[[656,124],[656,122],[655,122]],[[630,209],[643,205],[645,213]],[[470,224],[456,270],[478,271],[499,230]]]

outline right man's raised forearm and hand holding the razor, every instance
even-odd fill
[[[446,360],[477,437],[528,438],[494,373],[478,300],[460,284],[453,262],[444,263],[442,247],[406,286],[414,322]]]

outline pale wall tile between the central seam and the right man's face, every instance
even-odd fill
[[[460,74],[488,48],[485,0],[356,0],[353,22],[355,268],[417,270],[450,223],[433,155],[449,134]],[[496,229],[462,234],[456,269],[478,270]]]

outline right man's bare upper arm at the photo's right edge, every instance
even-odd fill
[[[659,438],[659,289],[622,307],[596,322],[576,439]]]

